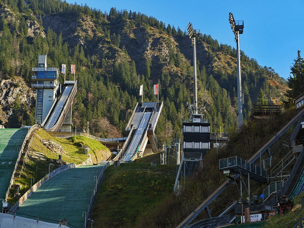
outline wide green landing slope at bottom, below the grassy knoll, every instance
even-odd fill
[[[39,220],[57,224],[60,219],[67,219],[67,223],[82,228],[96,185],[94,177],[98,178],[103,167],[104,165],[80,166],[57,174],[26,200],[16,210],[16,215],[29,219],[39,217]],[[68,224],[73,227],[71,225]]]

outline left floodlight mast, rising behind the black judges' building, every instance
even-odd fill
[[[198,38],[201,33],[200,30],[195,30],[193,29],[192,23],[189,22],[188,26],[187,26],[187,30],[188,30],[188,36],[191,40],[191,44],[193,46],[193,106],[194,106],[194,110],[193,110],[193,114],[197,114],[198,113],[198,101],[197,101],[197,75],[196,75],[196,47],[195,47],[195,41],[196,38]]]

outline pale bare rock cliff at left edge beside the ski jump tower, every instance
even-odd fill
[[[21,104],[26,104],[28,107],[34,105],[36,94],[21,77],[0,81],[0,120],[2,123],[6,123],[9,116],[12,115],[12,106],[17,94]]]

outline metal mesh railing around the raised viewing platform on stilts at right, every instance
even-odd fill
[[[230,167],[241,167],[245,170],[251,171],[266,178],[266,169],[254,163],[251,163],[243,158],[235,156],[219,160],[219,169],[225,169]]]

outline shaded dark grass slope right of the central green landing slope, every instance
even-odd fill
[[[151,171],[117,171],[121,167],[149,167],[149,163],[112,165],[101,183],[93,218],[95,227],[136,227],[173,192],[175,176]],[[164,168],[164,167],[158,167]]]

